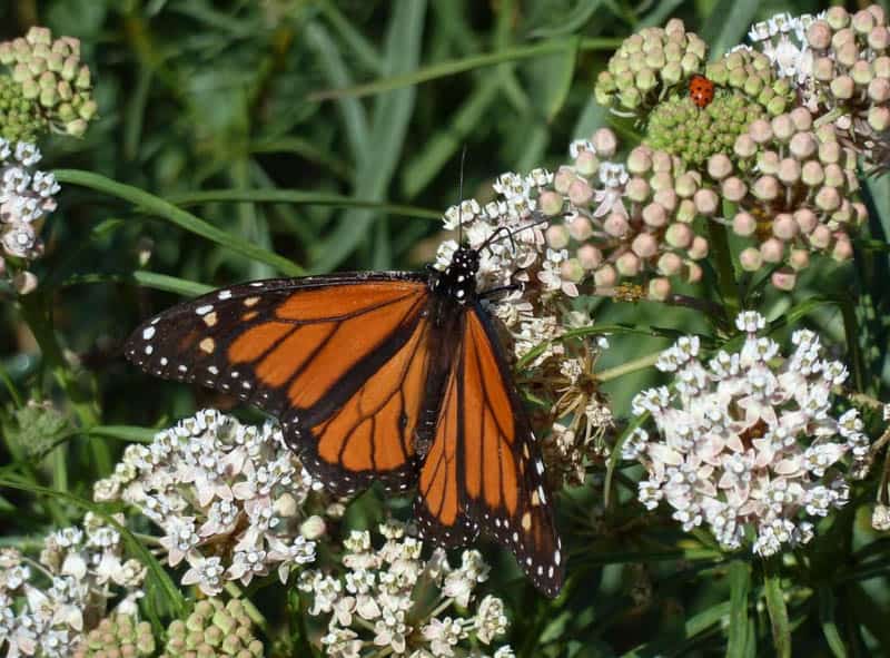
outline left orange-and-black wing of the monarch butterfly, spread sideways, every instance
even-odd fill
[[[336,493],[414,483],[429,364],[429,291],[408,274],[254,282],[180,304],[125,351],[147,372],[277,415],[288,445]]]

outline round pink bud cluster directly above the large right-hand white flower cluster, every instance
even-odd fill
[[[751,243],[740,254],[743,269],[781,265],[772,283],[792,289],[811,253],[852,256],[850,235],[867,212],[850,200],[859,188],[857,157],[840,137],[834,125],[817,127],[812,112],[798,107],[751,124],[732,158],[708,160],[708,183],[738,207],[733,232]]]

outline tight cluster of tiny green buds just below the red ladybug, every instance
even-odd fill
[[[652,110],[645,143],[698,166],[714,154],[732,153],[735,138],[764,116],[761,106],[738,91],[719,89],[704,108],[689,94],[675,94]]]

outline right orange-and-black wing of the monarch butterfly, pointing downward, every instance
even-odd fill
[[[415,511],[424,533],[446,544],[464,543],[482,526],[513,551],[536,587],[555,596],[564,557],[544,464],[482,313],[465,313]]]

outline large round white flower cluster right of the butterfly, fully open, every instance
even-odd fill
[[[662,354],[656,365],[673,373],[671,387],[633,400],[657,434],[637,429],[622,456],[646,468],[639,498],[647,509],[666,502],[685,531],[704,523],[726,549],[750,531],[753,551],[771,556],[807,543],[808,519],[848,502],[848,478],[866,475],[870,442],[856,410],[832,414],[831,389],[848,373],[823,357],[814,333],[794,332],[794,352],[775,365],[780,347],[760,335],[764,317],[744,312],[736,326],[746,334],[740,352],[705,364],[699,340],[683,337]]]

